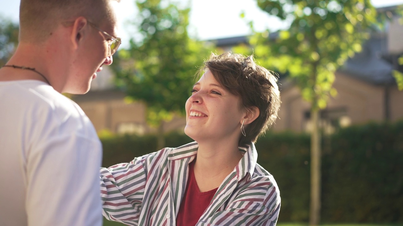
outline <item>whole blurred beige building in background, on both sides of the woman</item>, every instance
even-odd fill
[[[388,10],[387,8],[381,10]],[[336,72],[333,84],[338,95],[331,98],[321,111],[321,125],[331,133],[339,127],[369,121],[397,121],[403,119],[403,91],[397,89],[393,70],[403,72],[397,64],[403,55],[403,26],[398,18],[387,25],[386,33],[374,33],[363,45],[363,50]],[[225,51],[235,45],[247,44],[246,37],[214,40]],[[114,133],[147,134],[156,131],[146,123],[146,107],[141,102],[128,103],[125,94],[114,88],[113,74],[106,66],[93,80],[85,95],[73,96],[97,131],[107,129]],[[281,107],[274,131],[310,130],[310,104],[304,101],[299,89],[288,80],[280,81]],[[183,103],[185,106],[185,103]],[[164,125],[164,132],[183,131],[184,118],[174,118]]]

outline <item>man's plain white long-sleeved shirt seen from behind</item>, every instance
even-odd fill
[[[76,103],[44,82],[0,82],[0,225],[102,225],[101,160]]]

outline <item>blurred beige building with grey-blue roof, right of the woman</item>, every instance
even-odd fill
[[[400,27],[403,31],[403,27]],[[389,37],[390,38],[390,37]],[[402,36],[395,37],[403,43]],[[400,54],[388,51],[388,35],[376,34],[363,45],[363,50],[347,60],[337,70],[333,87],[337,96],[330,98],[321,111],[325,131],[368,121],[397,121],[403,119],[403,91],[399,91],[392,73]],[[310,130],[310,104],[304,101],[299,89],[287,80],[280,82],[281,108],[275,131]]]

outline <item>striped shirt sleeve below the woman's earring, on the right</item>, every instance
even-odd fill
[[[198,222],[196,226],[274,226],[280,211],[280,193],[271,183],[253,185],[235,197],[227,207]]]

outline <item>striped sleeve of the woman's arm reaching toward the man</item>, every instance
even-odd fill
[[[138,222],[146,181],[142,158],[101,168],[102,214],[108,220]]]

